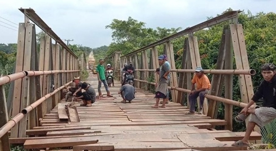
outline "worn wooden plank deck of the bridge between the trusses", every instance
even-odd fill
[[[97,91],[96,76],[87,82]],[[68,117],[71,121],[79,118],[79,122],[61,121],[59,113],[62,113],[58,110],[62,108],[55,107],[40,121],[41,127],[27,130],[28,138],[10,139],[11,143],[24,143],[27,149],[72,146],[70,150],[74,151],[247,150],[247,147],[231,146],[244,136],[244,132],[211,129],[212,125],[225,125],[224,120],[213,120],[206,115],[184,115],[187,107],[173,102],[166,108],[153,109],[154,95],[141,89],[137,89],[133,103],[123,104],[117,94],[119,88],[120,83],[115,82],[110,88],[113,98],[105,97],[92,107],[75,103],[77,113]],[[102,92],[105,92],[103,86]],[[261,136],[253,132],[251,139],[261,139]]]

